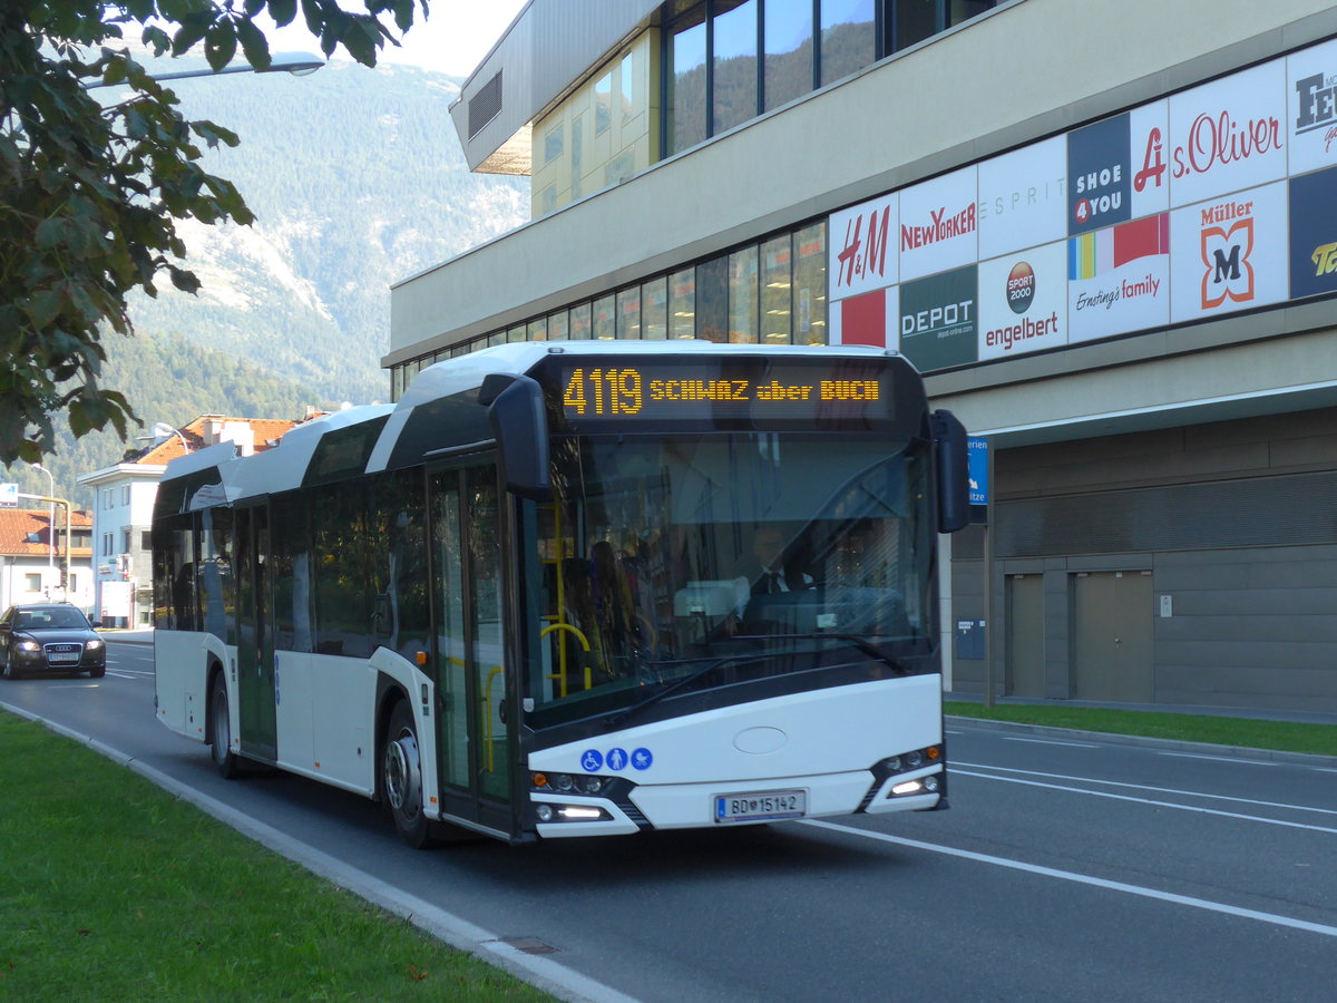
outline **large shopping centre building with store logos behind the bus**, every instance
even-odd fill
[[[951,689],[1337,710],[1332,4],[532,0],[452,115],[532,219],[393,289],[396,396],[501,341],[897,349],[992,453]]]

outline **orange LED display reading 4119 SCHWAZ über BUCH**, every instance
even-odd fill
[[[562,413],[571,423],[606,420],[854,420],[892,413],[881,366],[600,365],[559,372]]]

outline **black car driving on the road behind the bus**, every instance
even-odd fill
[[[70,603],[11,606],[0,617],[0,670],[17,679],[31,673],[107,674],[107,645]]]

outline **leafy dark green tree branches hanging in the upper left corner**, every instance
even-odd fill
[[[428,0],[4,0],[0,4],[0,463],[37,461],[56,424],[78,439],[140,424],[131,401],[102,385],[108,341],[134,334],[127,296],[162,284],[195,293],[176,223],[249,225],[231,182],[201,166],[205,148],[237,146],[213,122],[190,122],[176,95],[124,44],[155,56],[199,47],[214,71],[238,58],[269,70],[255,19],[301,12],[330,56],[342,47],[376,66]],[[120,84],[103,104],[92,86]]]

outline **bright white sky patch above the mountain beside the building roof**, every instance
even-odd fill
[[[431,0],[427,20],[418,20],[404,36],[402,47],[386,45],[377,62],[435,70],[451,76],[468,76],[488,49],[501,37],[527,0]],[[342,4],[353,11],[357,3]],[[283,31],[266,32],[270,52],[320,52],[320,45],[302,24],[301,13]],[[336,55],[346,59],[342,49]]]

